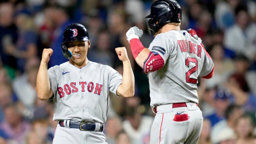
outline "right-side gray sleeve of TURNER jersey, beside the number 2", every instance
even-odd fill
[[[209,54],[205,51],[205,49],[203,50],[203,52],[204,52],[204,64],[199,74],[199,76],[201,77],[204,77],[210,74],[213,71],[213,67],[214,67],[213,61],[209,56]]]

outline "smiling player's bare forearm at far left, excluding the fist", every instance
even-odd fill
[[[52,95],[47,63],[40,64],[36,79],[36,91],[38,98],[41,100],[47,100]]]

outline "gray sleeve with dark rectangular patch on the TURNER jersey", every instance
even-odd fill
[[[163,58],[165,64],[172,51],[172,49],[170,48],[170,44],[172,45],[172,43],[165,35],[158,34],[152,41],[148,49],[151,52],[158,53]]]

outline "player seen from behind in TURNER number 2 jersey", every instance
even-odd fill
[[[155,37],[149,48],[140,42],[139,28],[126,33],[135,61],[149,73],[150,105],[156,113],[151,144],[196,144],[202,129],[197,78],[211,78],[214,66],[195,31],[180,30],[181,17],[178,2],[158,0],[146,17]]]

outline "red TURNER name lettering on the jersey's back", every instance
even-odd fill
[[[201,58],[202,46],[186,40],[177,40],[181,52],[193,53]]]

